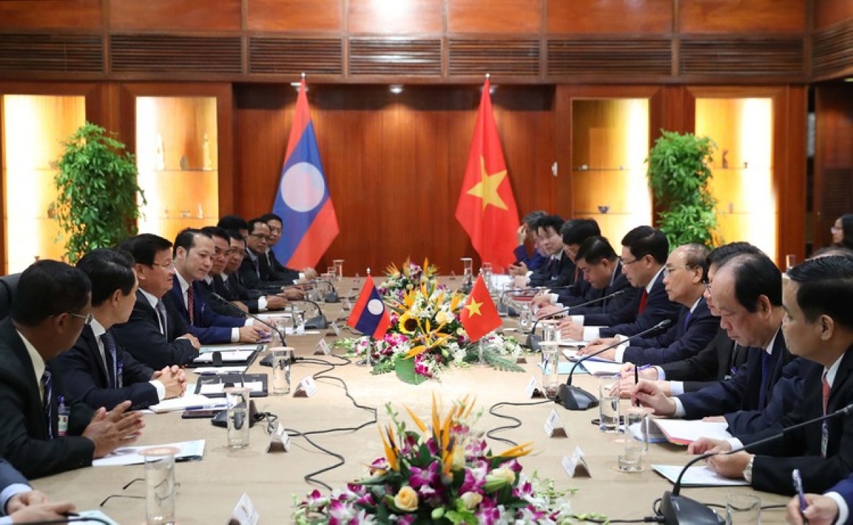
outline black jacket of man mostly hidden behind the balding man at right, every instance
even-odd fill
[[[667,381],[684,382],[685,392],[695,392],[727,379],[746,363],[746,348],[728,338],[717,327],[717,335],[696,355],[661,365]]]

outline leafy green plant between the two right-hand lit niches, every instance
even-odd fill
[[[671,247],[696,242],[710,248],[717,236],[717,199],[708,190],[708,164],[717,144],[692,133],[661,133],[646,160],[648,183],[661,210],[658,226]]]

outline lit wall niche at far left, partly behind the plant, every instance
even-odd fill
[[[34,260],[61,260],[65,241],[52,215],[61,142],[84,125],[84,96],[3,95],[5,273]]]

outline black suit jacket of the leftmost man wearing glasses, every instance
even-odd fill
[[[38,393],[36,372],[24,341],[11,318],[0,323],[0,456],[28,479],[57,474],[92,464],[95,443],[81,437],[93,411],[84,405],[72,405],[68,433],[49,439],[48,424],[58,436],[56,396],[61,393],[61,378],[52,373],[53,392],[49,400],[48,422],[44,403]]]

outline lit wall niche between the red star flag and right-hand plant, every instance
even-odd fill
[[[648,112],[645,98],[572,100],[573,217],[598,221],[616,248],[625,233],[652,221]]]

